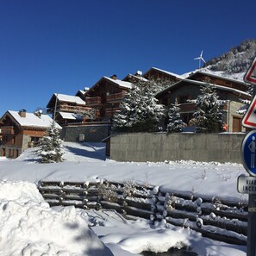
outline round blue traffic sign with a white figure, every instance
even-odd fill
[[[241,155],[247,172],[256,177],[256,130],[247,134],[242,142]]]

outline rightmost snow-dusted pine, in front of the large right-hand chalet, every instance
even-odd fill
[[[190,103],[197,104],[197,110],[194,112],[197,132],[218,133],[223,131],[223,120],[221,111],[221,102],[215,91],[215,86],[206,81],[201,86],[201,94],[197,99],[190,100]]]

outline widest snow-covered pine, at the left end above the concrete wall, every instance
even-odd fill
[[[154,132],[158,130],[164,108],[154,97],[152,81],[134,80],[113,118],[113,130],[119,132]]]

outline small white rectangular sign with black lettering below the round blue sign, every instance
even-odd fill
[[[237,191],[242,194],[256,194],[256,178],[240,175],[237,178]]]

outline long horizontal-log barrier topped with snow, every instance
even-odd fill
[[[211,239],[247,244],[247,203],[198,196],[161,187],[103,181],[41,181],[38,188],[51,206],[115,209],[127,218],[142,217],[191,228]]]

